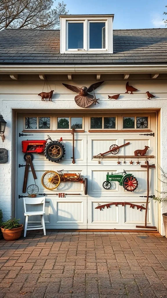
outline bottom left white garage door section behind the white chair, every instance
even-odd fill
[[[51,196],[50,196],[51,197]],[[27,205],[28,211],[40,211],[42,205]],[[18,199],[18,215],[21,222],[24,223],[24,207],[23,199]],[[87,227],[87,198],[81,199],[79,197],[68,198],[52,198],[46,197],[45,203],[45,226],[48,228],[57,227],[58,229]],[[30,216],[29,225],[40,223],[40,216]]]

